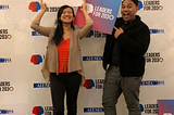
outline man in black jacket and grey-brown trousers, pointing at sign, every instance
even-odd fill
[[[141,114],[139,88],[150,31],[136,15],[137,11],[138,0],[123,0],[122,17],[116,20],[112,35],[107,35],[103,53],[103,68],[107,69],[102,95],[104,115],[116,115],[115,104],[122,92],[128,115]]]

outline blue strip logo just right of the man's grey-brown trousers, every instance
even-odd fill
[[[164,80],[144,80],[141,81],[141,86],[162,86],[165,85]]]

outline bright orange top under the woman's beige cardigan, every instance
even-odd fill
[[[61,40],[58,46],[59,73],[67,73],[70,38]]]

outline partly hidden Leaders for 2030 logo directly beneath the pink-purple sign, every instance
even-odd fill
[[[90,33],[86,36],[86,38],[91,38],[92,36],[95,38],[105,38],[107,34],[103,34],[103,33],[100,33],[100,31],[97,31],[97,30],[90,30]]]

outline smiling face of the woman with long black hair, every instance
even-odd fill
[[[74,15],[73,15],[73,11],[71,8],[66,8],[63,10],[60,20],[62,21],[62,23],[65,24],[71,24],[74,20]]]

